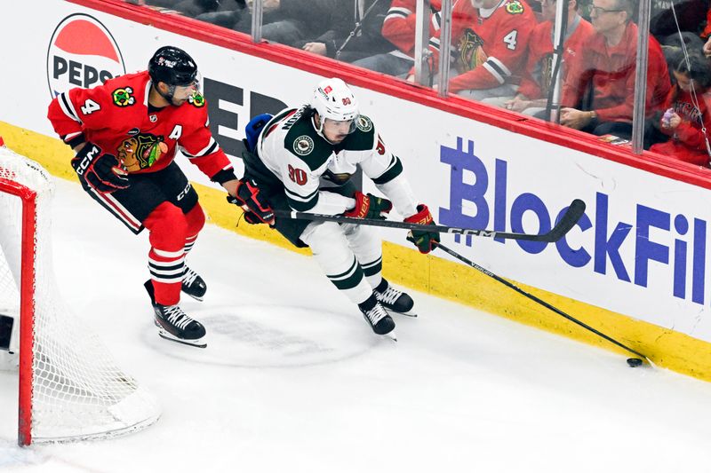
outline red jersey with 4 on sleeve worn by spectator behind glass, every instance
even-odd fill
[[[536,17],[524,0],[501,0],[491,9],[459,0],[451,12],[452,59],[459,75],[451,79],[450,91],[518,83],[535,26]],[[438,31],[429,40],[435,61],[439,60],[439,35]]]

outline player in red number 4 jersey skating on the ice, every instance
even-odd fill
[[[76,152],[71,164],[84,190],[133,233],[148,229],[151,277],[145,287],[160,335],[204,347],[203,325],[178,305],[180,290],[202,300],[207,288],[185,264],[205,217],[196,191],[173,162],[176,151],[253,215],[272,217],[258,203],[256,187],[236,178],[212,138],[198,79],[188,53],[165,46],[150,59],[148,71],[60,93],[48,118]]]

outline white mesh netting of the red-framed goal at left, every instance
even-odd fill
[[[36,192],[36,236],[30,252],[36,264],[32,441],[113,437],[156,422],[160,415],[156,398],[116,366],[99,337],[59,296],[52,272],[52,179],[39,164],[4,147],[0,147],[0,314],[17,316],[20,304],[28,304],[20,302],[20,274],[31,268],[31,262],[21,259],[22,201],[7,190],[17,185]],[[13,336],[13,345],[18,338]],[[20,377],[28,375],[20,368]]]

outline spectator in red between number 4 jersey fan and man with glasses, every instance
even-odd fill
[[[571,64],[580,60],[587,42],[595,33],[593,26],[580,18],[577,0],[568,1],[568,25],[563,38],[563,65],[561,75]],[[494,97],[483,99],[483,103],[504,106],[508,110],[527,115],[538,114],[546,109],[548,92],[553,74],[553,41],[555,21],[555,0],[541,2],[541,20],[531,32],[528,42],[528,62],[515,97]]]

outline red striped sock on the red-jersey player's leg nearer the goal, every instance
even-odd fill
[[[143,221],[150,232],[148,269],[155,289],[156,304],[180,302],[180,287],[185,272],[185,240],[188,221],[182,210],[163,202]]]

